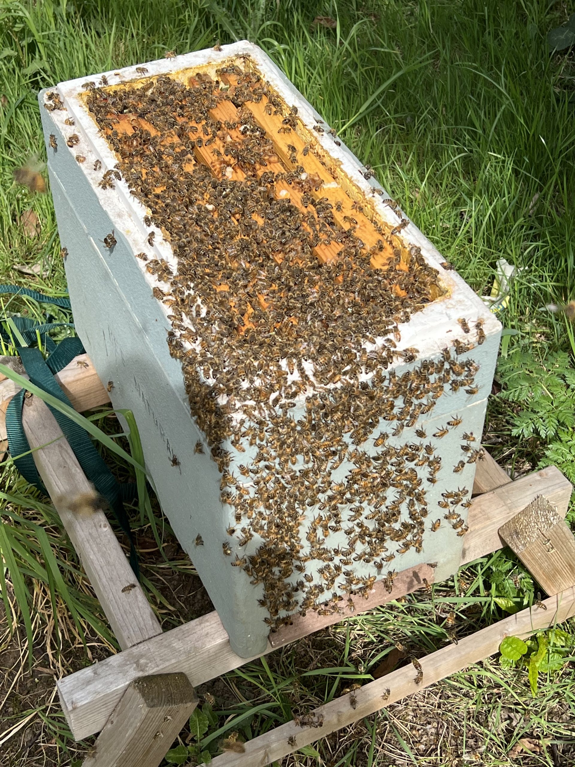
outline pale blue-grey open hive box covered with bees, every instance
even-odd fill
[[[370,169],[248,42],[40,101],[77,331],[235,652],[454,573],[500,324]]]

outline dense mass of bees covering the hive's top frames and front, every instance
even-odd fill
[[[137,254],[222,474],[224,555],[261,584],[272,629],[294,611],[353,609],[377,578],[393,591],[401,555],[442,524],[435,503],[465,534],[469,490],[433,509],[426,495],[442,468],[481,454],[465,433],[462,459],[442,467],[436,443],[462,420],[424,428],[446,390],[478,390],[468,324],[434,359],[397,347],[399,324],[442,293],[397,236],[407,220],[392,200],[399,224],[368,219],[331,184],[297,108],[255,72],[92,85],[87,107],[119,160],[100,186],[123,177],[156,228],[147,244],[161,232],[177,261]]]

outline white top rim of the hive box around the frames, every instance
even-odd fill
[[[136,72],[136,65],[134,65],[120,70],[90,75],[90,77],[99,79],[104,75],[107,77],[110,85],[115,85],[130,81],[141,81],[146,77],[154,77],[159,74],[172,74],[192,67],[202,67],[208,64],[220,65],[224,61],[241,56],[251,57],[252,61],[255,62],[261,71],[261,74],[278,91],[278,94],[286,103],[297,107],[298,118],[302,120],[308,129],[312,130],[313,126],[317,124],[317,120],[323,119],[317,116],[317,110],[311,107],[311,104],[299,94],[268,55],[261,48],[258,48],[257,45],[248,41],[224,45],[221,51],[208,48],[203,51],[179,55],[175,58],[163,58],[159,61],[146,62],[147,71],[144,75]],[[58,91],[61,94],[67,112],[65,110],[55,110],[51,112],[51,117],[58,123],[64,136],[71,133],[82,134],[81,144],[69,151],[72,154],[81,152],[86,156],[87,161],[82,164],[81,168],[93,187],[100,204],[109,213],[110,218],[116,225],[117,231],[122,232],[126,237],[133,252],[136,253],[142,250],[148,253],[152,252],[152,257],[155,254],[158,258],[164,258],[174,272],[176,272],[177,258],[173,254],[169,242],[163,239],[162,233],[158,229],[144,224],[143,217],[146,216],[148,211],[141,202],[130,194],[130,189],[126,182],[122,179],[116,183],[115,189],[107,189],[106,191],[97,186],[102,173],[116,165],[117,157],[113,154],[107,140],[99,132],[94,118],[90,115],[84,100],[81,98],[81,94],[84,93],[82,85],[90,77],[78,77],[75,80],[58,84]],[[64,117],[67,114],[74,118],[74,127],[67,127],[64,124]],[[327,125],[325,127],[327,129]],[[385,190],[382,196],[374,193],[374,189],[383,189],[383,187],[375,179],[368,181],[363,177],[365,169],[353,153],[343,143],[337,146],[334,142],[334,137],[327,130],[317,135],[316,140],[335,160],[339,160],[341,170],[347,173],[347,176],[359,187],[360,191],[366,196],[370,196],[376,213],[383,221],[396,225],[397,219],[395,214],[389,209],[389,206],[384,205],[382,202],[383,199],[389,197],[389,194]],[[102,168],[99,171],[94,171],[95,160],[100,160],[102,163]],[[146,244],[146,237],[151,230],[156,231],[156,240],[152,248]],[[446,293],[444,296],[432,301],[421,311],[412,314],[408,323],[399,325],[401,340],[397,343],[398,351],[408,347],[416,347],[419,350],[417,357],[421,359],[438,354],[445,346],[450,346],[455,338],[467,340],[462,334],[461,326],[458,324],[459,318],[465,318],[469,324],[481,319],[484,321],[483,329],[486,335],[498,334],[501,330],[499,321],[494,318],[494,315],[485,307],[483,301],[478,298],[478,295],[471,290],[457,272],[446,271],[442,267],[441,262],[444,260],[442,255],[429,242],[429,239],[419,231],[416,225],[409,222],[409,225],[403,229],[402,237],[410,245],[419,246],[422,257],[439,272],[439,282],[445,288]],[[146,272],[145,262],[142,262],[140,259],[136,259],[136,261],[140,265],[146,282],[150,285],[150,291],[156,285],[161,285],[154,275]],[[170,310],[161,301],[159,303],[166,315],[166,322],[169,323],[168,315]],[[383,338],[380,337],[377,341],[381,342]],[[367,342],[364,345],[368,351],[373,348],[373,345]],[[402,360],[399,360],[398,364],[401,364],[401,362]],[[305,397],[305,394],[303,396]]]

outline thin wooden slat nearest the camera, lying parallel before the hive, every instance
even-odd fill
[[[537,630],[566,621],[575,614],[575,589],[570,588],[549,597],[543,604],[544,608],[527,608],[504,621],[476,631],[459,640],[456,645],[450,644],[420,658],[423,678],[419,684],[416,683],[416,670],[409,664],[364,685],[360,690],[310,711],[307,716],[313,721],[313,726],[288,722],[245,743],[245,752],[242,754],[224,753],[216,756],[212,760],[212,767],[264,767],[302,746],[324,738],[330,732],[445,679],[445,676],[462,671],[471,663],[478,663],[497,653],[504,637],[528,637]]]

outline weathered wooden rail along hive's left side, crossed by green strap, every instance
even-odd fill
[[[22,422],[31,448],[41,448],[33,453],[38,473],[120,647],[126,649],[160,634],[159,622],[104,512],[79,516],[67,509],[67,502],[90,492],[91,485],[56,419],[42,400],[28,397]]]

